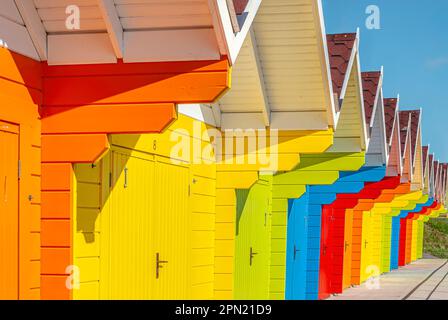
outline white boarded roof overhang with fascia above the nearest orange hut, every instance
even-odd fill
[[[238,11],[234,3],[242,3]],[[2,0],[0,40],[11,51],[49,65],[121,59],[204,61],[222,56],[233,64],[260,3]]]

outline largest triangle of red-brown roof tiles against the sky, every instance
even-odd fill
[[[356,33],[327,35],[333,91],[341,95],[348,63],[355,46]]]

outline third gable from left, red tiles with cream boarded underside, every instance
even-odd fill
[[[327,36],[333,93],[340,112],[330,152],[361,152],[368,146],[357,33]],[[337,102],[336,102],[337,103]]]

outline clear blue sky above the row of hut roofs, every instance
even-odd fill
[[[322,0],[327,33],[360,28],[363,71],[384,66],[386,97],[400,94],[401,109],[423,109],[423,143],[448,161],[448,1]],[[366,27],[376,5],[380,30]]]

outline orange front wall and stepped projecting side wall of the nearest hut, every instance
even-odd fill
[[[0,70],[0,121],[19,126],[23,163],[17,298],[70,299],[73,164],[98,160],[108,134],[158,133],[176,104],[215,101],[228,59],[50,67],[0,49]]]

